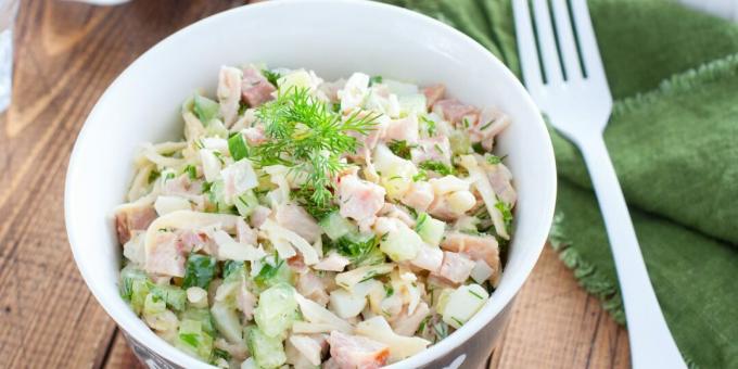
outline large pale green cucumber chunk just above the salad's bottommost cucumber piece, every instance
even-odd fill
[[[292,285],[280,283],[262,292],[254,311],[256,325],[270,338],[282,338],[295,319],[297,301]]]

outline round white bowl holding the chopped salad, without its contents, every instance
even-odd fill
[[[152,367],[209,367],[156,336],[118,295],[122,255],[111,214],[130,183],[136,147],[179,138],[182,101],[196,88],[214,91],[221,65],[249,62],[306,67],[326,78],[361,71],[420,85],[443,82],[450,96],[497,105],[512,117],[496,152],[509,155],[520,201],[499,287],[461,329],[392,366],[479,367],[548,234],[556,199],[548,132],[514,75],[471,38],[400,8],[345,0],[264,2],[202,20],[133,62],[87,118],[66,177],[66,228],[85,281],[135,352]]]

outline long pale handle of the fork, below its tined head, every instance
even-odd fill
[[[591,135],[578,141],[615,260],[633,368],[686,368],[659,307],[605,140],[601,135]]]

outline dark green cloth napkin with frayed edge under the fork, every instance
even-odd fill
[[[465,31],[519,74],[509,0],[384,1]],[[669,326],[691,367],[738,368],[738,24],[666,0],[589,9],[615,99],[606,142]],[[551,244],[622,323],[586,167],[554,129],[551,138]]]

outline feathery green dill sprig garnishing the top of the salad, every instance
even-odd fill
[[[290,167],[304,179],[303,189],[313,191],[309,200],[323,206],[333,198],[331,178],[346,166],[341,155],[356,152],[355,136],[368,135],[379,114],[356,112],[344,118],[307,89],[290,88],[259,106],[256,116],[268,140],[251,156],[260,166]]]

